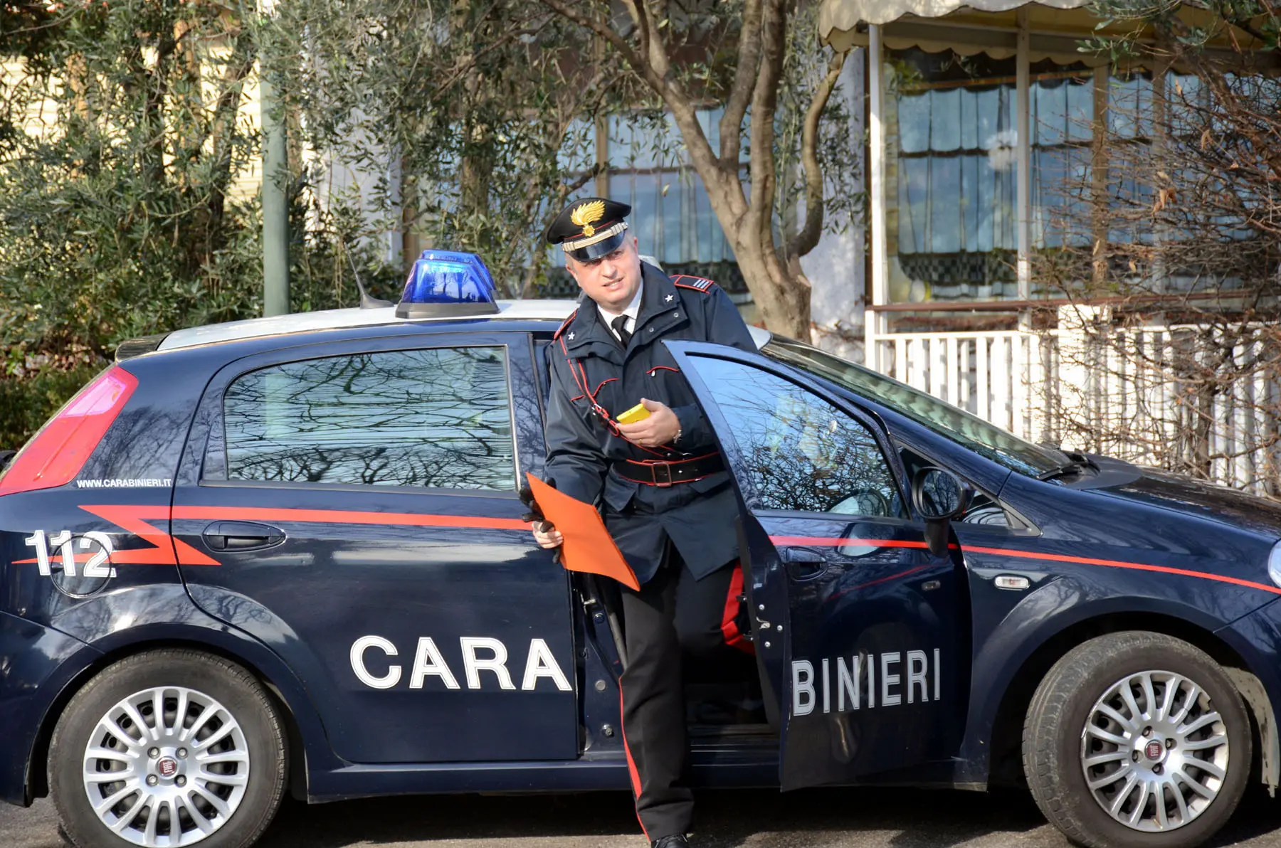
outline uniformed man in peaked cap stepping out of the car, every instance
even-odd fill
[[[669,278],[640,261],[628,233],[630,211],[591,197],[566,208],[547,231],[548,242],[564,247],[584,297],[548,357],[546,475],[566,494],[601,502],[640,583],[639,592],[621,587],[623,738],[640,826],[655,848],[676,848],[687,844],[693,815],[681,779],[688,753],[681,653],[703,660],[734,653],[726,638],[742,571],[728,471],[689,384],[660,342],[755,345],[715,283]],[[615,420],[637,404],[648,418]],[[561,543],[555,529],[535,525],[534,537],[542,547]]]

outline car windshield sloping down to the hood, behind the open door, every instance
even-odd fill
[[[761,352],[770,359],[787,363],[848,388],[856,395],[883,404],[930,428],[939,436],[1020,474],[1041,477],[1067,462],[1067,457],[1058,451],[1025,442],[995,424],[989,424],[981,418],[945,404],[931,395],[861,365],[847,363],[817,347],[775,336],[769,345],[761,348]]]

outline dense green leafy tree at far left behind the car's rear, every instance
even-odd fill
[[[0,5],[0,447],[120,341],[261,313],[257,19],[236,0]],[[307,179],[293,309],[355,304],[345,245],[366,222]]]

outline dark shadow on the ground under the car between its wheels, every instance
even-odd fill
[[[790,794],[717,790],[699,794],[698,812],[698,845],[707,848],[852,845],[861,843],[860,833],[874,831],[880,838],[869,844],[943,848],[998,830],[1018,834],[1045,825],[1024,794],[951,790],[831,789]],[[596,836],[610,838],[611,844],[635,836],[635,844],[643,844],[630,795],[611,792],[379,798],[313,807],[291,802],[281,811],[263,847],[292,848],[305,843],[314,848],[346,848],[360,843],[521,836],[552,842]]]

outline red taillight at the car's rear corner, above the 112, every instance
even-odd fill
[[[124,409],[138,378],[119,365],[99,374],[27,442],[4,475],[0,494],[70,483]]]

